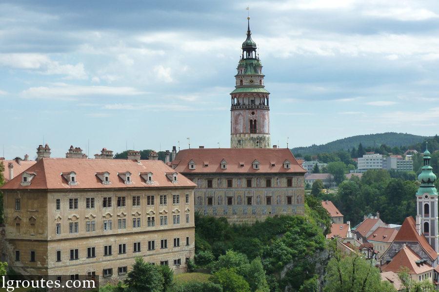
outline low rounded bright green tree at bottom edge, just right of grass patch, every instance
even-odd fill
[[[250,292],[250,286],[244,277],[237,274],[235,269],[221,268],[209,278],[215,284],[222,285],[223,292]]]

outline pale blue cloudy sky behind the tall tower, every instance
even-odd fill
[[[0,156],[230,147],[248,13],[272,145],[438,133],[439,1],[248,4],[0,1]]]

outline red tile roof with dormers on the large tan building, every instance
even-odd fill
[[[63,172],[76,173],[77,185],[69,185],[61,175]],[[131,184],[125,184],[118,176],[119,173],[129,171]],[[195,183],[184,177],[178,176],[179,183],[172,183],[165,173],[175,172],[166,166],[162,161],[122,159],[72,159],[72,158],[43,158],[38,163],[27,169],[27,172],[35,172],[29,186],[21,186],[21,176],[15,177],[12,181],[5,183],[1,189],[82,189],[82,188],[131,188],[131,187],[191,187]],[[100,172],[109,172],[110,184],[102,184],[96,176]],[[140,172],[152,172],[154,183],[147,184],[140,177]]]

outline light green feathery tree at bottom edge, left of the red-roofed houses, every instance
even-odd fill
[[[335,253],[326,266],[328,281],[324,292],[396,292],[389,282],[381,281],[379,269],[359,255]]]

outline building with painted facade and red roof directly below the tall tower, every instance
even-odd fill
[[[275,215],[304,214],[304,170],[287,148],[180,150],[175,170],[196,185],[202,215],[252,223]]]

